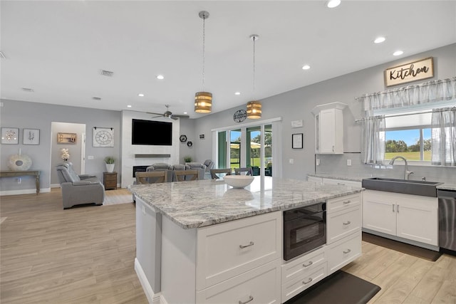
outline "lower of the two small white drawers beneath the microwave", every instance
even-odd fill
[[[303,273],[302,276],[282,284],[282,302],[293,298],[303,290],[311,287],[321,279],[326,277],[326,262],[311,271]]]

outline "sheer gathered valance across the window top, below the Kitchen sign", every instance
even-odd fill
[[[456,99],[456,77],[365,94],[356,99],[364,104],[366,111],[453,100]]]

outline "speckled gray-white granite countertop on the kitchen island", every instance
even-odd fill
[[[135,184],[128,189],[183,229],[305,206],[362,191],[357,187],[276,177],[264,177],[263,182],[255,177],[245,189],[234,189],[223,180],[212,179]]]

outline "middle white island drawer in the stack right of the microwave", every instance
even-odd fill
[[[338,241],[361,230],[361,206],[341,210],[326,216],[326,243]]]

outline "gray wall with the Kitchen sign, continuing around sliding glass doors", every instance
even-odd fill
[[[263,105],[261,120],[282,117],[282,176],[294,179],[306,179],[307,173],[315,172],[315,127],[314,115],[312,115],[311,110],[316,105],[333,103],[336,101],[348,105],[348,108],[344,110],[343,116],[344,152],[361,152],[361,126],[357,125],[355,120],[363,117],[364,111],[363,105],[355,100],[355,98],[365,93],[375,93],[389,89],[385,88],[383,80],[383,71],[385,68],[430,56],[434,58],[433,79],[450,78],[456,75],[456,44],[452,44],[415,56],[400,58],[397,61],[377,65],[373,68],[366,68],[365,70],[360,70],[355,73],[341,75],[337,78],[315,83],[314,85],[308,85],[304,88],[298,88],[261,100]],[[343,60],[343,58],[341,58],[341,60]],[[416,83],[408,83],[406,85],[410,84]],[[214,103],[217,102],[216,98],[217,95],[214,95]],[[248,100],[246,100],[246,103],[247,101]],[[235,125],[232,117],[234,112],[238,109],[239,107],[232,108],[231,110],[207,115],[206,117],[196,120],[195,135],[209,132],[209,130],[217,127]],[[293,120],[304,120],[304,126],[291,128],[291,121]],[[252,120],[246,120],[246,122],[252,122]],[[292,133],[304,133],[304,150],[291,149]],[[200,142],[199,145],[195,146],[195,155],[197,155],[197,161],[212,157],[212,137],[207,137],[204,142]],[[353,164],[361,164],[360,154],[356,155],[356,158],[353,157]],[[343,156],[328,155],[326,156],[326,159],[333,159],[333,162],[331,163],[331,166],[333,166],[334,164],[343,163],[338,161],[341,157]],[[294,159],[294,164],[289,164],[289,159]],[[345,167],[340,166],[332,168],[333,173],[341,175],[350,174],[350,172],[347,171],[346,165]],[[370,169],[371,167],[368,167],[367,170]],[[452,170],[450,172],[454,173],[454,168],[447,169]],[[439,170],[448,172],[447,169],[435,168],[434,171],[437,170],[437,172],[433,172],[432,175],[438,176]],[[423,170],[426,171],[426,169],[422,169],[422,171]],[[423,172],[421,172],[421,174],[423,174]]]

